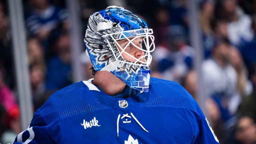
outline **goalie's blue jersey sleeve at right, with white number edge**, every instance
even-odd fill
[[[196,101],[194,103],[195,111],[187,112],[187,117],[193,130],[194,138],[192,144],[219,144],[218,138],[214,134],[199,105]]]

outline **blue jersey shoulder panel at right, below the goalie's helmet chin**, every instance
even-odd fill
[[[195,110],[193,97],[180,84],[158,78],[150,78],[148,98],[143,106]]]

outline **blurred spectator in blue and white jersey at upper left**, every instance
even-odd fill
[[[68,15],[65,9],[50,4],[49,0],[30,0],[31,8],[26,16],[29,36],[41,42],[45,58],[54,55],[53,45],[63,31],[68,31]]]

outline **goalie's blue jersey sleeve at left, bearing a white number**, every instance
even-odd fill
[[[56,144],[61,141],[61,124],[57,121],[47,124],[44,117],[37,110],[28,129],[15,138],[13,144]]]

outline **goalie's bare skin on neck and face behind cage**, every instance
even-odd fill
[[[139,37],[132,41],[135,45],[138,47],[141,47],[143,38]],[[123,39],[118,41],[118,44],[124,48],[126,44],[128,44],[127,39]],[[120,50],[120,49],[119,49]],[[129,53],[130,55],[134,56],[135,58],[140,58],[144,55],[144,52],[138,48],[136,48],[134,45],[130,44],[125,51]],[[135,62],[136,60],[126,53],[122,53],[122,56],[125,60]],[[104,93],[108,95],[117,95],[120,94],[126,84],[121,81],[119,78],[117,78],[115,75],[108,71],[97,71],[94,76],[94,80],[92,82],[95,86],[99,87]]]

